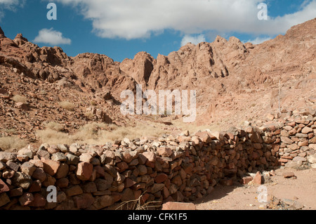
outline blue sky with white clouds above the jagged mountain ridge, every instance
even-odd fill
[[[57,20],[46,18],[50,2]],[[258,20],[260,3],[268,6],[268,20]],[[40,47],[57,45],[70,56],[100,53],[115,61],[139,51],[157,58],[216,35],[258,44],[315,17],[316,0],[0,0],[6,37],[22,33]]]

